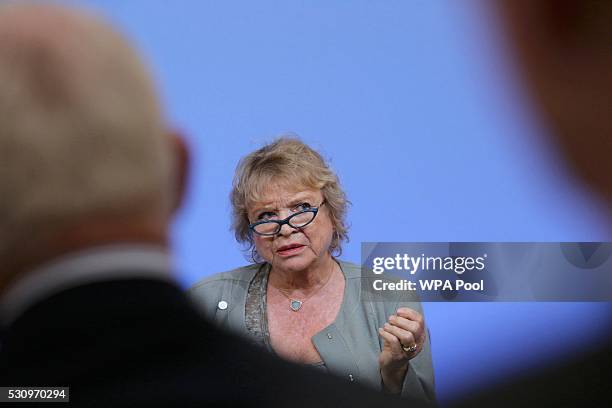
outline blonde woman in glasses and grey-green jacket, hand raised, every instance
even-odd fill
[[[361,301],[359,266],[333,256],[347,239],[347,200],[317,152],[280,138],[249,154],[231,202],[254,263],[193,287],[210,318],[288,360],[434,399],[418,300]]]

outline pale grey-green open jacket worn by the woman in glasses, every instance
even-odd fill
[[[361,268],[343,261],[339,264],[346,281],[342,305],[336,320],[315,334],[312,342],[330,373],[381,390],[378,356],[383,340],[378,328],[399,307],[409,307],[419,313],[423,310],[416,295],[407,291],[386,292],[376,299],[372,299],[371,294],[362,297]],[[269,267],[269,264],[252,264],[210,276],[196,283],[190,295],[214,323],[248,337],[245,324],[247,290],[261,267]],[[364,300],[365,297],[370,299]],[[435,400],[429,336],[423,350],[410,360],[402,395],[428,402]]]

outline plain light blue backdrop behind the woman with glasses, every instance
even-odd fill
[[[75,2],[73,2],[75,3]],[[229,231],[234,167],[286,132],[327,157],[362,241],[609,239],[536,119],[479,1],[78,1],[151,63],[193,152],[174,228],[185,286],[246,263]],[[426,304],[442,402],[574,357],[606,304]]]

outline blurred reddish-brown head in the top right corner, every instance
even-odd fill
[[[500,9],[563,152],[612,203],[612,1],[503,0]]]

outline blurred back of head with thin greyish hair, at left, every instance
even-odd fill
[[[120,35],[54,6],[0,6],[0,266],[36,245],[130,230],[163,241],[173,156],[149,75]]]

